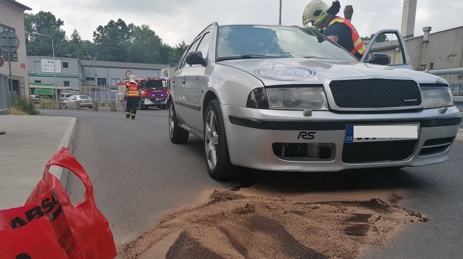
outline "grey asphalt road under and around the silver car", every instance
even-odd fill
[[[389,190],[397,205],[425,213],[428,222],[408,224],[384,247],[369,247],[359,258],[460,258],[463,254],[463,144],[452,147],[443,164],[397,171],[329,174],[256,173],[253,181],[217,182],[205,171],[202,143],[169,140],[167,111],[138,111],[136,120],[120,112],[40,110],[42,115],[78,120],[74,156],[94,184],[96,202],[110,222],[118,246],[157,225],[168,212],[195,205],[212,189],[246,184],[288,193]],[[83,195],[71,179],[71,200]]]

